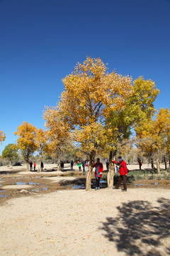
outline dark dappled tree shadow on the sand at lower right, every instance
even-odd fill
[[[170,255],[170,200],[159,198],[159,206],[132,201],[118,206],[118,217],[107,218],[101,230],[125,255]]]

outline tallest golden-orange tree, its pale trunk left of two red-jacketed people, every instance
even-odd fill
[[[96,152],[106,145],[106,117],[111,111],[125,107],[125,99],[131,94],[131,80],[130,76],[122,76],[115,71],[108,73],[100,58],[86,58],[63,79],[60,110],[74,130],[75,141],[81,144],[86,154],[89,153],[86,190],[91,188]]]

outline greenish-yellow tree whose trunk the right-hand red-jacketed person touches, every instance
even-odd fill
[[[106,119],[107,147],[110,149],[109,154],[109,171],[108,186],[113,186],[113,164],[112,159],[115,158],[117,151],[121,151],[121,147],[128,142],[131,129],[138,122],[147,122],[155,112],[153,102],[156,99],[159,90],[155,87],[152,80],[144,80],[143,77],[137,78],[132,83],[132,87],[128,88],[129,97],[125,98],[124,107],[120,110],[113,110]],[[109,111],[109,108],[108,108]]]

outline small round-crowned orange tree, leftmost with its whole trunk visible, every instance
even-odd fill
[[[18,136],[17,146],[21,151],[23,159],[27,163],[27,171],[29,171],[30,156],[38,148],[36,144],[37,130],[38,129],[33,126],[33,124],[23,122],[23,124],[18,127],[17,132],[13,132],[16,136]]]

